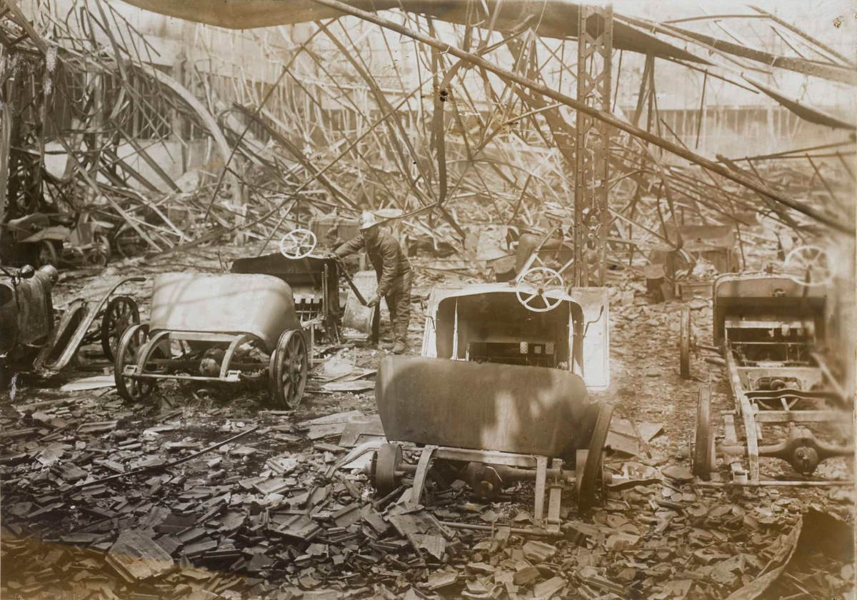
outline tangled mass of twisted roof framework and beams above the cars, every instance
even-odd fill
[[[579,221],[579,215],[572,219],[568,196],[579,171],[574,141],[580,115],[604,123],[609,132],[608,210],[598,216],[595,229],[610,268],[640,272],[651,251],[681,249],[686,240],[680,227],[688,223],[738,226],[742,245],[756,243],[741,237],[740,227],[759,213],[798,237],[817,225],[853,230],[853,207],[845,198],[854,178],[848,165],[854,123],[762,79],[775,71],[793,73],[853,95],[857,71],[824,43],[758,10],[746,19],[764,21],[800,51],[774,54],[702,33],[697,23],[679,27],[614,14],[611,47],[620,51],[615,87],[638,77],[623,70],[622,52],[644,55],[646,65],[636,107],[626,114],[615,97],[604,110],[603,103],[571,93],[575,69],[569,65],[576,52],[566,53],[565,45],[578,35],[575,3],[132,2],[220,27],[315,21],[309,39],[297,45],[266,93],[249,77],[239,76],[237,85],[225,90],[196,68],[183,81],[153,68],[155,49],[110,4],[78,0],[75,19],[69,19],[72,13],[44,11],[35,15],[34,25],[15,3],[8,4],[13,8],[3,15],[9,29],[4,35],[15,42],[9,47],[34,51],[15,55],[18,76],[31,77],[35,93],[13,103],[21,126],[8,132],[11,199],[3,221],[21,239],[33,240],[33,230],[15,229],[9,219],[69,208],[109,223],[111,246],[123,254],[169,252],[225,234],[270,240],[291,219],[279,218],[283,209],[297,214],[300,225],[332,211],[353,215],[372,208],[393,211],[415,243],[428,239],[435,249],[450,247],[463,259],[482,256],[476,251],[482,225],[542,235],[556,224]],[[411,87],[400,74],[382,84],[359,41],[340,31],[339,15],[419,42],[413,50],[417,85]],[[442,37],[460,39],[459,45],[440,42],[440,21],[452,27],[452,36]],[[339,51],[347,75],[323,62],[314,46],[321,41]],[[270,56],[265,45],[260,51]],[[794,123],[834,128],[833,139],[776,155],[710,159],[697,150],[704,119],[677,130],[659,108],[655,59],[704,75],[701,108],[705,81],[720,81],[775,99]],[[112,78],[116,69],[124,76]],[[77,107],[74,122],[39,120],[41,111],[51,116],[61,99],[74,97],[65,89],[69,77],[87,74],[111,81],[106,102],[119,123],[111,135],[95,134],[101,117],[94,84],[71,103]],[[489,100],[475,99],[475,89]],[[141,90],[156,92],[158,101]],[[180,120],[165,119],[169,111]],[[316,115],[327,116],[311,118]],[[135,135],[141,126],[130,123],[137,122],[150,141]],[[219,154],[219,165],[213,162],[202,176],[205,184],[193,191],[160,168],[156,156],[174,153],[170,141],[176,137],[186,144],[189,130]],[[51,154],[69,157],[64,171],[36,166],[39,157]],[[771,167],[772,158],[789,160],[788,173]],[[74,177],[78,172],[81,177]],[[157,195],[159,189],[180,197],[182,208]],[[468,219],[458,211],[474,203],[484,207],[482,215],[475,223],[464,222]],[[500,243],[489,254],[495,258],[504,249]]]

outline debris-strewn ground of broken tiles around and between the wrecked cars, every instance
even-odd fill
[[[118,276],[219,270],[234,252],[63,273],[55,303],[97,297]],[[417,273],[419,314],[440,275]],[[144,322],[149,290],[132,293]],[[704,338],[710,304],[696,308]],[[129,405],[99,383],[112,375],[96,360],[53,380],[19,377],[0,420],[0,591],[138,600],[853,597],[850,491],[692,482],[697,382],[679,377],[679,312],[677,302],[650,304],[642,279],[611,290],[603,399],[616,405],[622,443],[606,466],[630,481],[606,485],[602,506],[587,514],[566,493],[557,537],[529,531],[531,484],[493,501],[453,484],[408,508],[401,492],[375,497],[361,468],[331,469],[381,433],[372,392],[381,350],[320,345],[295,412],[270,410],[264,390],[173,382]],[[421,331],[415,316],[411,351]],[[692,366],[698,380],[716,381],[716,406],[727,408],[721,369],[701,358]],[[851,466],[833,468],[842,475]]]

